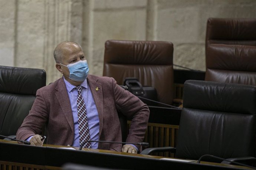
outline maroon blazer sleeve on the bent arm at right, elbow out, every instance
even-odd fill
[[[150,111],[137,96],[121,88],[112,78],[116,108],[131,118],[131,127],[126,142],[142,142],[147,130]],[[137,146],[140,148],[141,146]]]

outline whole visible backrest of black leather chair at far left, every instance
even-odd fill
[[[16,135],[37,89],[45,85],[43,69],[0,66],[0,135]]]

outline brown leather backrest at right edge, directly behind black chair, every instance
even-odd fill
[[[206,81],[256,86],[256,46],[209,44]]]

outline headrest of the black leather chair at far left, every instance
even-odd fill
[[[36,95],[46,85],[43,69],[0,66],[0,92]]]

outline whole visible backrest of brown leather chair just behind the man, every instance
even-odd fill
[[[123,85],[135,77],[142,86],[153,86],[159,102],[173,102],[173,44],[165,41],[121,41],[105,43],[104,76]]]

